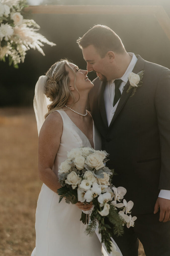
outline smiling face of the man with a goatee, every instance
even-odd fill
[[[97,76],[101,81],[108,80],[107,70],[108,70],[108,58],[105,56],[101,58],[100,54],[97,52],[93,45],[89,45],[82,49],[84,60],[87,62],[87,71],[96,72]],[[109,79],[110,80],[110,79]]]

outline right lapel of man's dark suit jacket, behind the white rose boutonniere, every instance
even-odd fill
[[[136,57],[138,58],[136,65],[134,67],[134,69],[132,70],[132,72],[134,73],[138,73],[139,71],[144,69],[144,62],[145,60],[142,59],[139,55],[136,55]],[[119,103],[117,105],[116,111],[114,113],[114,116],[112,118],[112,121],[109,125],[109,127],[113,124],[114,120],[116,119],[117,115],[121,112],[122,108],[124,107],[126,101],[128,100],[129,96],[132,94],[133,89],[130,89],[129,93],[126,93],[127,89],[129,88],[130,83],[129,80],[127,81],[127,83],[124,86],[122,95],[120,97]]]

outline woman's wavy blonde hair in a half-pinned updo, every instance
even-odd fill
[[[70,78],[66,66],[72,70],[76,80],[75,71],[69,66],[67,60],[56,62],[46,73],[48,79],[45,84],[45,95],[52,101],[52,103],[48,105],[48,112],[46,113],[45,118],[54,110],[63,108],[68,101],[68,98],[72,98],[73,104],[76,102],[76,99],[69,88]],[[75,80],[74,87],[78,92],[75,86]]]

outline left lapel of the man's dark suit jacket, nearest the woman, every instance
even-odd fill
[[[108,121],[107,121],[106,109],[104,104],[104,96],[103,96],[105,86],[106,86],[106,82],[100,82],[100,86],[98,90],[98,107],[99,107],[102,120],[105,126],[108,128]]]

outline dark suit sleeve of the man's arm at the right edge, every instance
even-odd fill
[[[161,148],[159,189],[170,190],[170,70],[166,69],[159,79],[155,93],[155,108]]]

